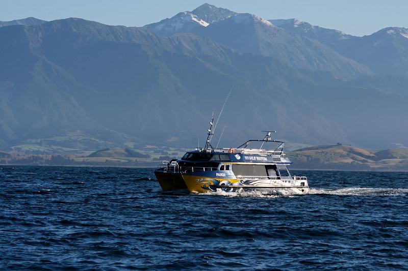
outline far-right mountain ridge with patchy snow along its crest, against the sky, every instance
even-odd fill
[[[407,28],[386,27],[370,35],[356,37],[297,19],[269,21],[291,33],[316,39],[376,74],[408,74]]]

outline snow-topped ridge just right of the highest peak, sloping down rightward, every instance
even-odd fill
[[[273,56],[296,69],[330,71],[337,77],[352,78],[371,71],[319,41],[289,35],[285,29],[246,13],[236,14],[192,33],[210,38],[238,51]],[[350,74],[345,75],[345,71]]]

